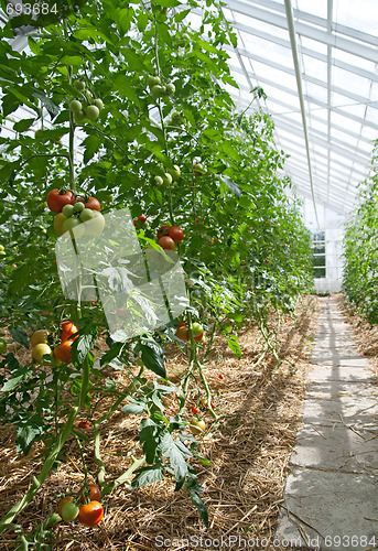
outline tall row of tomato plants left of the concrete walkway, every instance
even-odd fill
[[[8,40],[28,23],[29,48],[17,52]],[[280,175],[284,154],[274,148],[272,121],[256,101],[263,91],[251,90],[252,115],[236,111],[224,48],[236,36],[209,0],[95,0],[53,23],[15,18],[2,37],[0,336],[7,328],[31,353],[21,365],[2,344],[0,414],[15,426],[19,453],[42,444],[43,466],[0,531],[11,527],[37,545],[61,518],[100,522],[99,501],[117,485],[137,489],[165,476],[177,491],[186,488],[207,526],[193,463],[207,463],[198,436],[220,412],[204,361],[218,334],[240,357],[238,329],[253,320],[279,365],[269,316],[287,317],[312,288],[310,235]],[[63,296],[55,244],[71,235],[77,255],[80,237],[100,235],[106,215],[125,208],[143,251],[179,255],[190,305],[156,331],[119,342],[98,299]],[[171,344],[187,356],[180,385],[166,372]],[[176,411],[168,417],[172,396]],[[104,399],[109,408],[99,414]],[[140,415],[140,450],[111,479],[101,424],[120,410]],[[25,534],[17,516],[58,468],[67,441],[89,443],[87,425],[77,423],[83,412],[90,412],[97,472],[83,460],[82,490],[61,496],[56,514]]]

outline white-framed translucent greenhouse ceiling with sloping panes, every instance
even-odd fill
[[[347,214],[378,136],[376,0],[225,0],[223,13],[238,35],[228,52],[237,108],[261,87],[298,192]],[[13,47],[26,44],[19,35]]]

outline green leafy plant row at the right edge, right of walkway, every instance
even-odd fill
[[[359,185],[357,207],[346,224],[343,289],[347,301],[369,323],[378,323],[378,171],[372,151],[371,175]]]

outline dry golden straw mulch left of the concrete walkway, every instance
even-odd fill
[[[283,360],[279,370],[270,354],[256,366],[262,342],[255,325],[239,333],[240,360],[228,349],[224,337],[216,337],[214,350],[206,363],[206,377],[214,390],[213,401],[219,419],[214,421],[204,410],[207,429],[205,436],[199,437],[199,452],[210,460],[212,465],[195,464],[199,473],[198,482],[204,487],[203,499],[208,508],[208,530],[187,491],[174,493],[172,480],[136,491],[129,491],[123,485],[104,500],[105,518],[98,527],[87,529],[77,521],[61,522],[55,530],[53,549],[137,551],[240,548],[239,543],[228,547],[210,543],[222,537],[240,537],[249,541],[264,538],[264,548],[270,549],[288,475],[288,460],[301,423],[317,311],[317,300],[305,296],[295,315],[288,317],[287,323],[282,321],[277,336]],[[277,327],[273,315],[271,325]],[[177,381],[186,365],[187,357],[176,346],[170,347],[170,378]],[[223,380],[219,379],[220,374]],[[110,375],[121,380],[119,371],[111,371]],[[104,403],[104,411],[107,407]],[[173,404],[168,403],[168,408],[173,408]],[[190,406],[187,418],[191,417],[188,413]],[[139,421],[138,417],[119,411],[101,426],[101,455],[110,479],[130,465],[130,450],[139,455]],[[23,496],[32,477],[40,472],[41,463],[35,461],[39,450],[33,449],[28,457],[17,456],[12,429],[2,426],[0,431],[2,516]],[[87,434],[91,439],[91,430]],[[67,442],[65,450],[65,460],[57,471],[51,473],[33,501],[17,518],[25,531],[35,529],[56,509],[62,494],[77,490],[80,486],[83,471],[74,439]],[[84,443],[87,467],[95,474],[91,451],[91,444]],[[13,531],[0,534],[0,549],[15,549]]]

